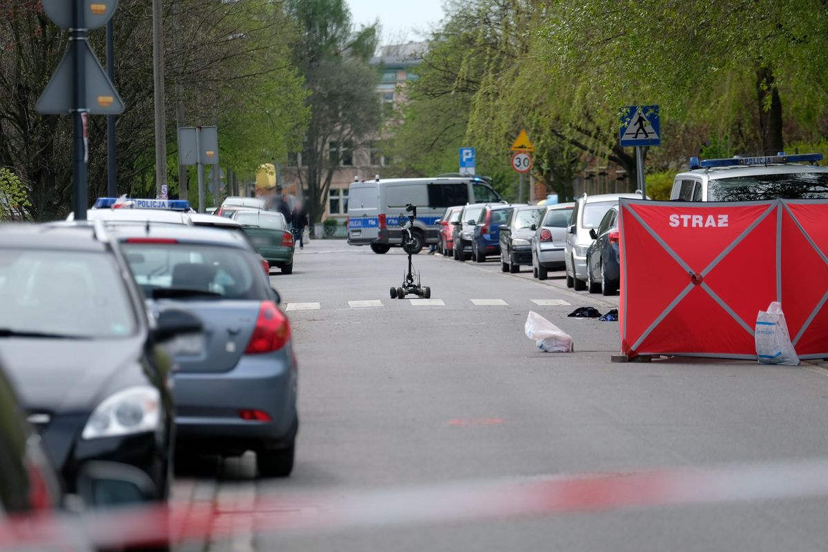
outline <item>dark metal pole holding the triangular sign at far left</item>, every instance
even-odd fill
[[[86,64],[84,47],[86,47],[86,29],[80,28],[84,21],[84,2],[75,0],[75,25],[71,31],[73,43],[73,63],[75,65],[75,102],[72,110],[72,172],[75,189],[72,197],[72,209],[75,220],[86,220],[88,207],[86,175],[86,142],[84,140],[84,115],[86,114]]]

